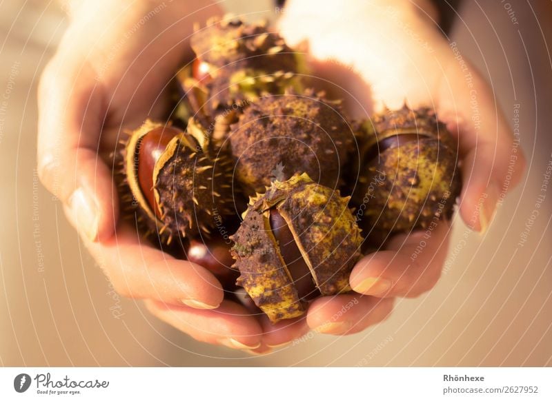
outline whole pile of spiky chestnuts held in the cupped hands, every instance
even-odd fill
[[[304,90],[304,59],[265,24],[207,25],[177,73],[172,123],[146,121],[123,152],[124,204],[161,248],[277,322],[350,291],[361,247],[451,215],[457,146],[433,110],[386,110],[354,133],[339,101]]]

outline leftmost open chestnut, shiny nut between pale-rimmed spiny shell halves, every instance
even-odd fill
[[[188,129],[195,136],[146,121],[124,152],[130,205],[141,212],[146,234],[157,232],[167,244],[175,235],[208,236],[217,219],[232,213],[231,161],[210,155],[209,142],[193,121]]]

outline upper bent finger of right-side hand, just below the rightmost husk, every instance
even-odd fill
[[[446,220],[425,231],[400,234],[384,251],[365,256],[351,271],[349,281],[359,294],[415,297],[433,288],[449,248]]]

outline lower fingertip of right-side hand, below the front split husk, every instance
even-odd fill
[[[359,294],[323,296],[308,308],[307,324],[325,334],[352,334],[382,322],[393,309],[393,298]]]

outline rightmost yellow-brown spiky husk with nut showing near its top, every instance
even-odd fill
[[[353,203],[359,225],[381,242],[450,218],[462,187],[457,147],[427,107],[377,114],[366,122],[363,163]]]

